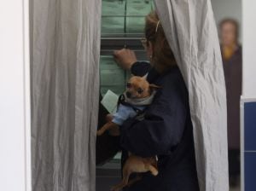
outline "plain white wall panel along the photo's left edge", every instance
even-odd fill
[[[0,190],[29,191],[28,0],[1,1],[0,23]]]

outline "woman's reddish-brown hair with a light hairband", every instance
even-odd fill
[[[165,32],[158,15],[153,11],[146,16],[145,38],[153,46],[152,61],[160,72],[177,65],[172,49],[167,42]]]

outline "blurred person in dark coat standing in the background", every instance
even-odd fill
[[[225,19],[219,24],[220,48],[223,57],[227,96],[228,147],[230,186],[236,186],[240,175],[240,96],[241,45],[236,20]]]

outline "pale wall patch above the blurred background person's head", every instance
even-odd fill
[[[225,18],[232,18],[237,20],[241,26],[241,1],[242,0],[212,0],[212,9],[217,24]],[[240,41],[242,41],[241,38]]]

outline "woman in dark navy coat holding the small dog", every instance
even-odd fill
[[[129,49],[114,52],[117,62],[138,76],[147,74],[150,84],[161,88],[144,111],[144,119],[128,119],[120,127],[120,145],[142,157],[158,156],[159,175],[146,173],[127,191],[197,191],[193,126],[189,113],[188,90],[167,43],[160,20],[148,14],[145,45],[150,65],[137,61]]]

